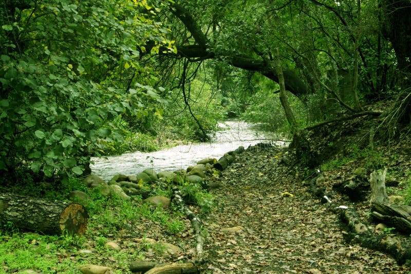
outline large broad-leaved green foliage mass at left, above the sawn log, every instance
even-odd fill
[[[166,101],[136,61],[147,39],[173,50],[160,9],[145,1],[34,2],[0,7],[0,169],[80,175],[121,132],[120,113],[143,116]],[[136,13],[136,10],[140,12]],[[150,10],[150,11],[149,11]],[[14,12],[14,13],[13,13]],[[139,75],[139,76],[137,76]]]

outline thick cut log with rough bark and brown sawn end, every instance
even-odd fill
[[[86,209],[80,204],[0,193],[0,222],[11,222],[18,229],[52,235],[64,230],[84,234],[87,217]]]

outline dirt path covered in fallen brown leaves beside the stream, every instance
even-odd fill
[[[345,244],[341,222],[279,164],[282,153],[246,151],[214,179],[218,210],[202,218],[208,273],[404,272],[384,253]]]

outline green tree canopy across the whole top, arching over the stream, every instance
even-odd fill
[[[285,88],[315,109],[312,120],[331,101],[358,112],[409,83],[410,9],[389,0],[6,0],[0,170],[80,175],[90,155],[121,140],[120,114],[161,119],[174,89],[206,134],[189,98],[200,67],[222,93],[234,83],[223,75],[245,79],[235,82],[239,97],[252,77],[278,83],[276,49]]]

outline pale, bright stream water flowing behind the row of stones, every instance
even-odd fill
[[[146,168],[162,170],[185,169],[204,158],[219,159],[224,153],[239,146],[247,148],[257,143],[272,141],[270,133],[257,130],[253,124],[241,121],[226,121],[219,124],[215,141],[179,145],[155,152],[130,152],[108,158],[93,158],[92,174],[108,181],[116,174],[136,175]],[[283,142],[275,142],[284,145]]]

